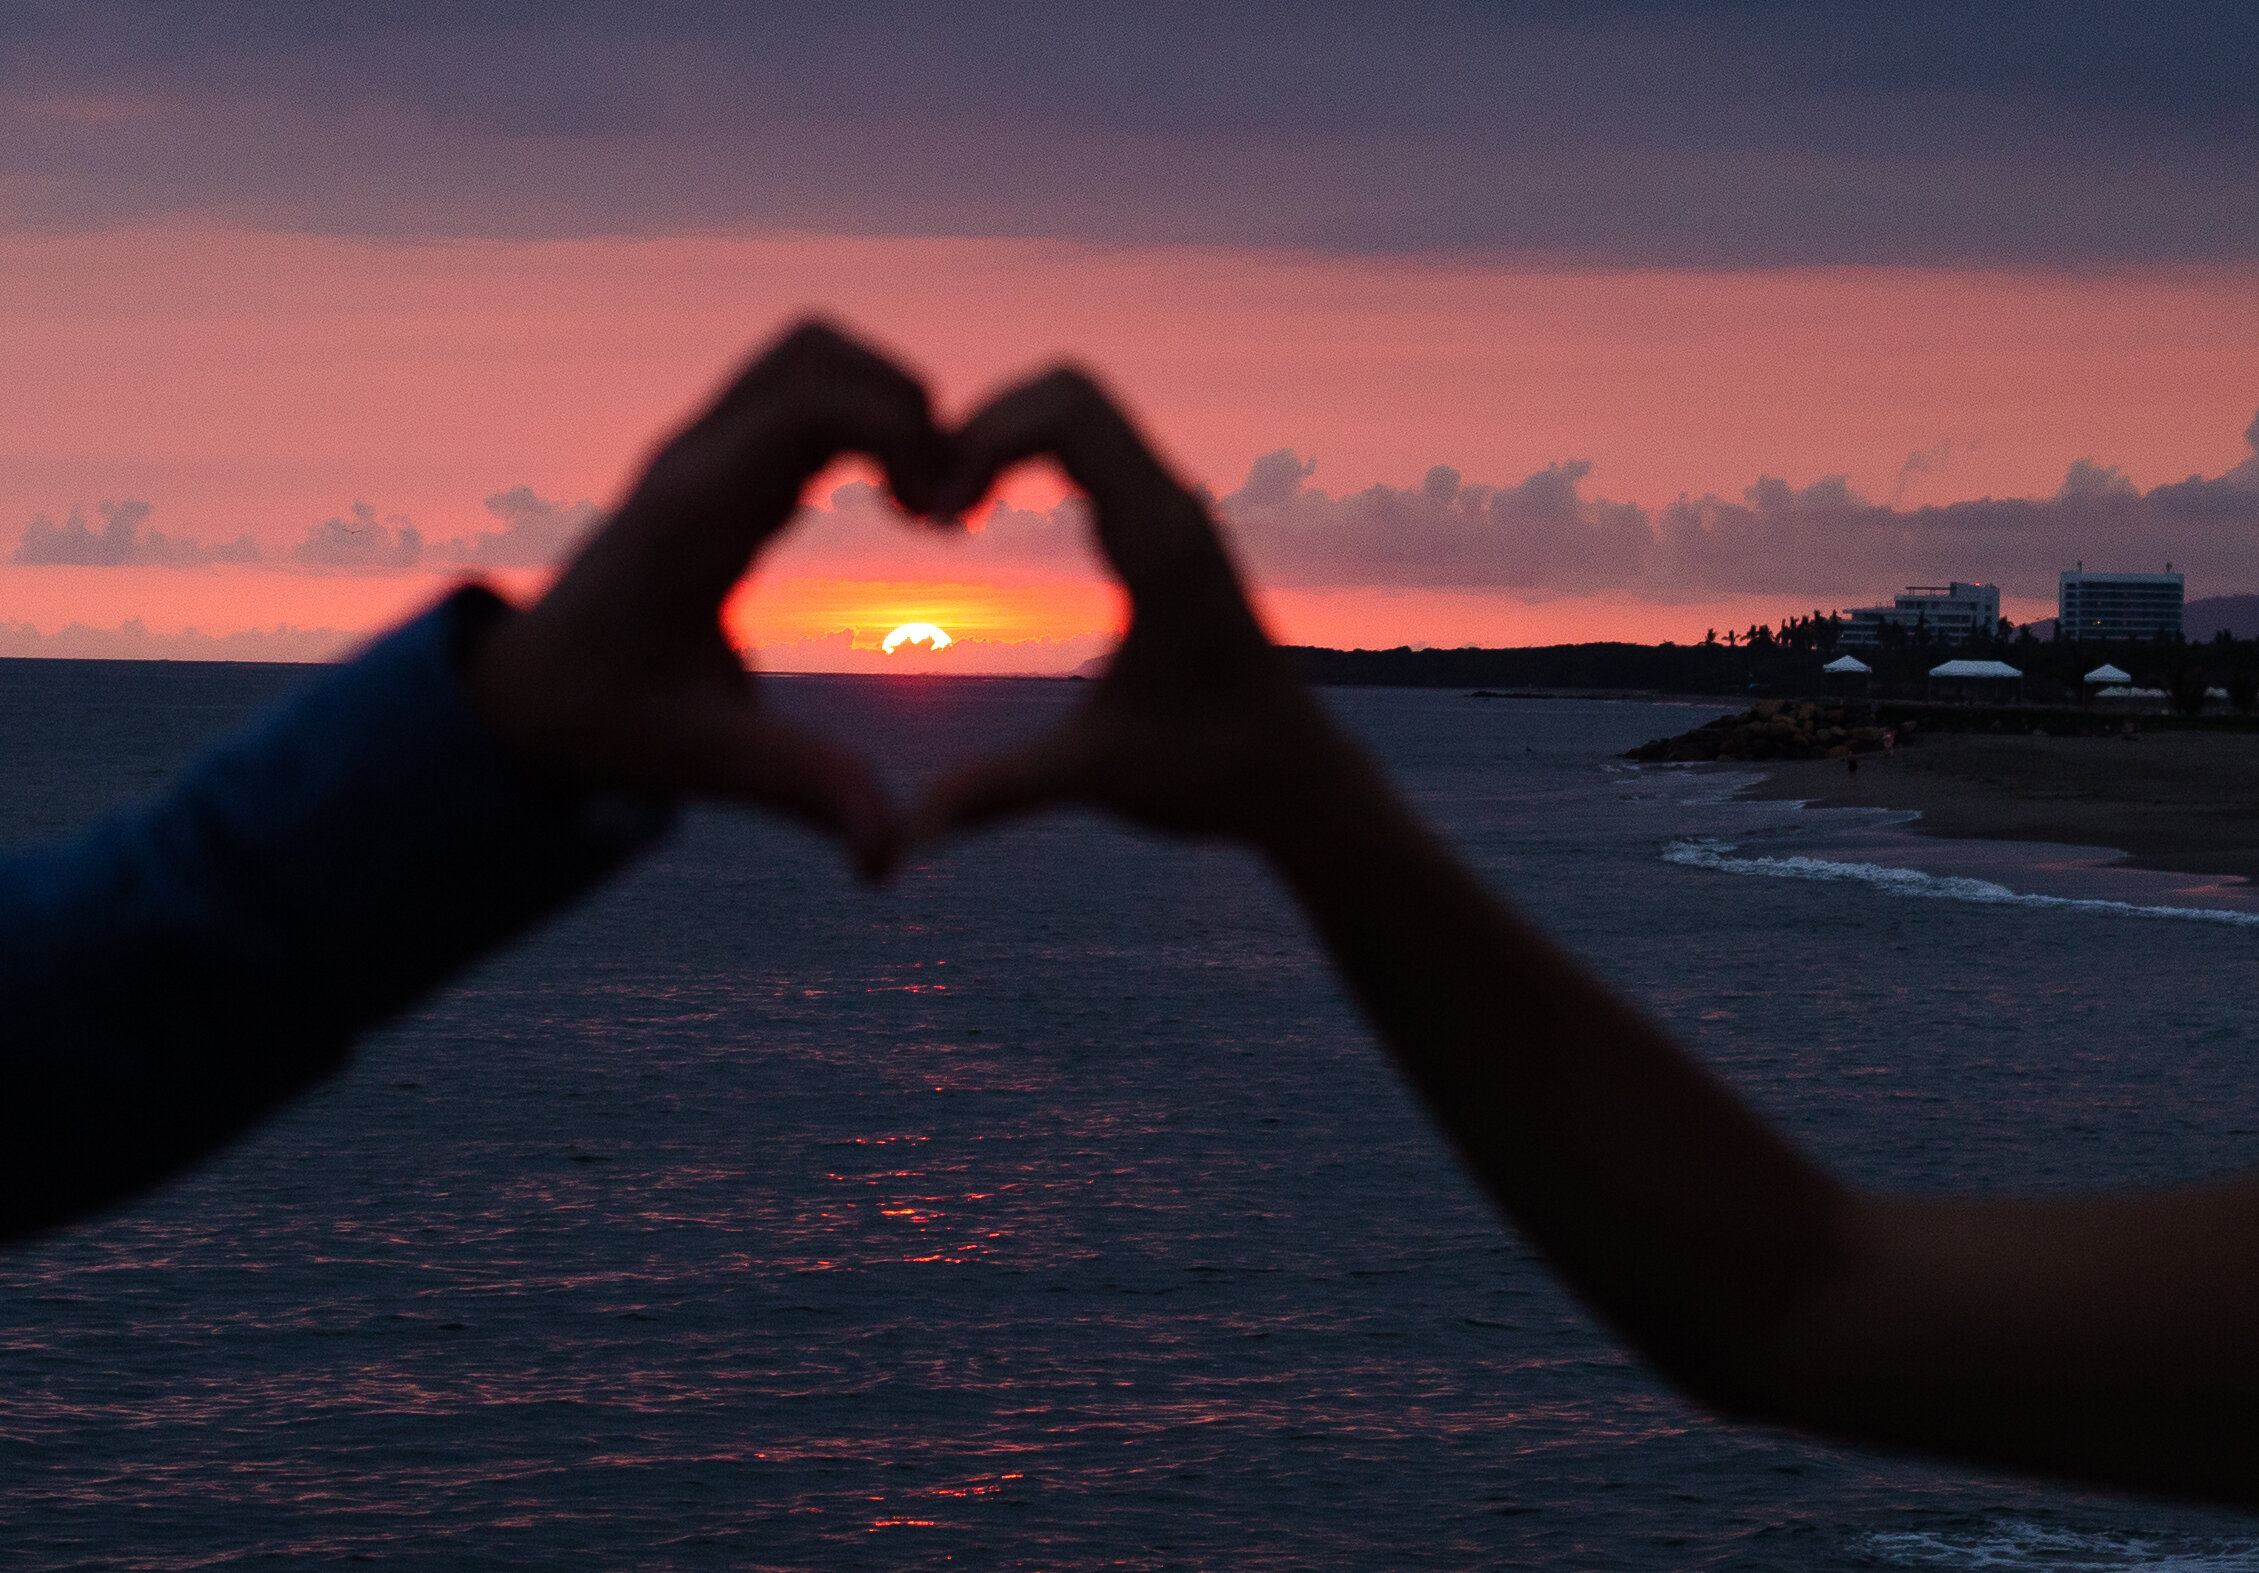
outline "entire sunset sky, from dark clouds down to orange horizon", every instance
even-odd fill
[[[2259,590],[2259,11],[1882,11],[9,7],[0,653],[538,594],[804,312],[953,414],[1093,366],[1292,642]],[[732,606],[764,664],[1107,646],[1055,477],[953,542],[870,479]]]

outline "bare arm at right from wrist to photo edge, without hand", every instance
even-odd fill
[[[2259,1177],[1850,1191],[1518,920],[1362,762],[1263,845],[1468,1166],[1703,1401],[1843,1440],[2259,1498]]]

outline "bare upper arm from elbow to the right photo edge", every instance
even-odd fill
[[[2096,1485],[2259,1501],[2259,1177],[1875,1198],[1782,1329],[1769,1417]]]

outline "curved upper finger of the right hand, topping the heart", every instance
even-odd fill
[[[1055,457],[1091,495],[1098,545],[1134,601],[1163,603],[1195,585],[1242,599],[1209,511],[1075,368],[1008,389],[965,423],[935,513],[969,509],[1001,470],[1039,454]]]

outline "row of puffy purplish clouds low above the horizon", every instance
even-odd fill
[[[2191,475],[2148,490],[2094,459],[2074,461],[2047,497],[1979,497],[1895,506],[1861,497],[1841,475],[1807,486],[1758,477],[1739,497],[1678,497],[1663,506],[1593,493],[1593,466],[1565,459],[1511,484],[1468,481],[1434,466],[1419,486],[1333,495],[1317,461],[1281,447],[1256,459],[1215,499],[1254,579],[1281,588],[1389,585],[1491,590],[1523,599],[1617,594],[1690,601],[1719,594],[1796,594],[1825,601],[1879,597],[1904,583],[1990,581],[2042,597],[2056,574],[2162,567],[2189,574],[2196,594],[2259,590],[2259,418],[2252,450],[2223,475]],[[1909,454],[1902,477],[1945,454]],[[287,551],[260,554],[248,536],[206,547],[145,527],[142,502],[102,504],[104,529],[79,513],[36,518],[18,563],[203,567],[251,563],[316,574],[398,574],[542,567],[594,527],[590,502],[551,502],[529,486],[486,499],[497,529],[427,540],[368,504],[323,520]],[[863,481],[804,509],[791,570],[840,579],[967,574],[1087,576],[1102,572],[1084,504],[994,506],[971,538],[906,524]]]

